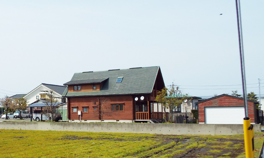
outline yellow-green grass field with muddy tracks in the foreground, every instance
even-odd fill
[[[264,141],[255,134],[255,155]],[[243,135],[0,130],[0,157],[244,157]]]

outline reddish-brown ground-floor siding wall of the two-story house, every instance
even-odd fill
[[[70,99],[69,99],[70,98]],[[72,107],[78,107],[78,110],[83,111],[82,107],[88,106],[88,113],[82,113],[82,120],[100,120],[99,113],[93,111],[94,102],[98,105],[98,96],[87,97],[68,97],[68,118],[69,120],[78,120],[78,114],[72,112]],[[104,96],[107,100],[105,106],[108,106],[108,113],[103,115],[103,120],[133,120],[133,101],[131,95],[118,95],[118,96]],[[102,100],[102,99],[101,99]],[[124,103],[124,111],[115,112],[111,111],[110,103]],[[98,109],[97,109],[98,110]]]

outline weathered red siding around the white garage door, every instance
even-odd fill
[[[205,123],[205,107],[212,106],[244,106],[244,101],[233,97],[221,96],[219,98],[199,103],[199,122]],[[255,123],[255,110],[256,107],[254,106],[254,103],[248,101],[248,116],[251,119],[251,123]]]

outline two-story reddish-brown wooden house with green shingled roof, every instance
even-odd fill
[[[63,97],[70,122],[135,122],[160,120],[153,112],[157,92],[165,87],[159,66],[74,73]],[[79,113],[78,113],[79,111]],[[78,115],[81,114],[81,115]]]

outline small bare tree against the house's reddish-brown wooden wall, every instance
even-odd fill
[[[97,100],[94,101],[95,105],[93,107],[96,106],[96,111],[94,112],[99,115],[99,119],[101,122],[103,120],[103,116],[111,116],[112,114],[114,114],[112,112],[112,107],[109,101],[110,100],[105,97],[97,98]]]

